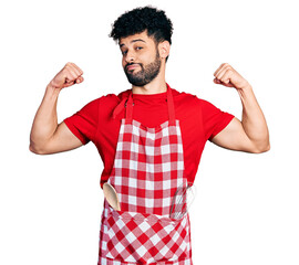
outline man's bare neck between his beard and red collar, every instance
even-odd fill
[[[165,81],[165,74],[163,71],[159,72],[156,78],[154,78],[151,83],[146,84],[145,86],[132,86],[133,94],[158,94],[167,92],[167,85]]]

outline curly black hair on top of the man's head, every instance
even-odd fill
[[[173,23],[163,10],[157,10],[152,6],[136,8],[123,13],[112,24],[109,36],[114,41],[121,38],[142,33],[147,30],[147,35],[153,36],[156,43],[168,41],[172,44]]]

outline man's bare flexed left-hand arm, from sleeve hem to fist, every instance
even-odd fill
[[[39,155],[71,150],[83,144],[70,131],[64,123],[58,125],[56,103],[62,88],[81,83],[83,72],[68,63],[47,86],[42,103],[35,114],[29,149]]]

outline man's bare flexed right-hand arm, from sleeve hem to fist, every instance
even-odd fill
[[[215,72],[216,84],[235,87],[243,104],[241,121],[234,118],[213,138],[213,142],[231,150],[265,152],[270,149],[269,131],[252,87],[230,65],[223,64]]]

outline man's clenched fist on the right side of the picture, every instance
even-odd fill
[[[249,83],[228,63],[221,64],[214,73],[214,83],[237,89],[249,86]]]

